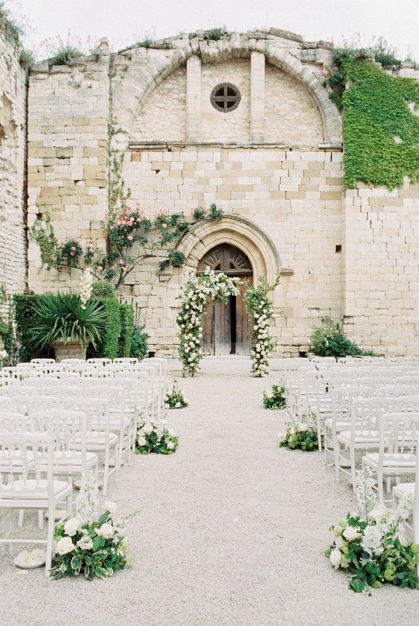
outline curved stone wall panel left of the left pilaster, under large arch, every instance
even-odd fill
[[[149,94],[133,136],[138,141],[186,139],[186,68],[179,68]]]

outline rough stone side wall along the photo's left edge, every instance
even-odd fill
[[[0,33],[0,283],[8,297],[27,281],[25,154],[27,71]],[[0,307],[6,311],[7,303]]]

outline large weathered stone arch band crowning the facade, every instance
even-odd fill
[[[314,71],[302,64],[295,54],[275,45],[274,40],[257,40],[238,33],[231,33],[230,38],[212,41],[210,45],[198,38],[184,41],[182,47],[168,49],[166,54],[160,50],[146,48],[133,49],[131,61],[126,61],[125,71],[118,73],[113,80],[113,106],[117,126],[126,139],[132,137],[135,119],[140,107],[152,89],[172,72],[186,64],[193,54],[200,57],[203,64],[224,61],[235,57],[249,57],[255,50],[265,54],[266,61],[290,74],[304,84],[314,98],[323,120],[325,142],[341,144],[341,118],[337,107],[332,103],[328,92],[321,84]],[[118,64],[124,57],[118,57]]]

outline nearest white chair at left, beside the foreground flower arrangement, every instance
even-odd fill
[[[0,451],[5,461],[0,466],[0,544],[39,544],[47,546],[45,574],[51,569],[54,514],[59,502],[66,501],[66,514],[71,516],[72,488],[68,482],[54,479],[54,442],[45,433],[0,433]],[[22,473],[15,477],[15,461],[22,463]],[[42,463],[42,465],[41,465]],[[46,472],[45,472],[46,469]],[[29,471],[34,478],[29,478]],[[41,478],[41,472],[46,478]],[[13,538],[13,511],[22,509],[48,512],[47,539]]]

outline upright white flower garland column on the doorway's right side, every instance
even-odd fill
[[[259,378],[269,373],[269,359],[275,345],[274,338],[270,334],[273,316],[269,292],[273,291],[278,283],[279,276],[273,285],[267,285],[265,278],[259,276],[258,286],[251,285],[244,294],[244,299],[247,301],[246,311],[253,322],[251,371]]]

